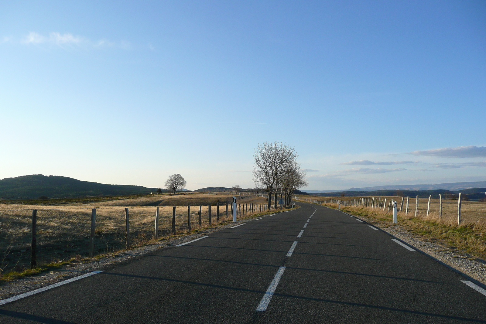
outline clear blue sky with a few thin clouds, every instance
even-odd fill
[[[3,1],[0,178],[484,181],[485,89],[484,1]]]

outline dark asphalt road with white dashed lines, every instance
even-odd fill
[[[301,205],[5,304],[0,323],[486,323],[464,277]]]

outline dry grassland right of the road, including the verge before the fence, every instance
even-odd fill
[[[303,201],[309,196],[299,197]],[[326,202],[331,199],[350,201],[361,197],[312,197],[312,200]],[[370,197],[365,197],[370,198]],[[374,220],[381,226],[391,227],[393,210],[388,211],[390,199],[401,204],[402,197],[386,198],[385,209],[364,206],[341,206],[341,209],[357,216],[364,216]],[[406,213],[406,197],[403,208],[397,213],[398,226],[407,229],[423,239],[440,242],[451,250],[463,252],[469,256],[486,260],[486,202],[463,200],[461,204],[461,223],[457,224],[457,200],[442,200],[442,218],[439,218],[439,200],[431,199],[429,215],[427,215],[428,198],[418,200],[417,217],[415,216],[416,198],[409,199],[409,209]],[[324,204],[337,208],[336,204]]]

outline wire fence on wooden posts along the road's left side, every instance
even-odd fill
[[[92,208],[44,207],[0,209],[0,273],[31,268],[33,251],[37,265],[89,256]],[[266,204],[238,204],[237,215],[250,216],[266,208]],[[95,209],[93,256],[137,247],[156,236],[207,228],[232,218],[231,204],[176,206],[175,213],[174,206],[129,207],[127,246],[125,207]],[[33,210],[36,210],[35,235]]]

